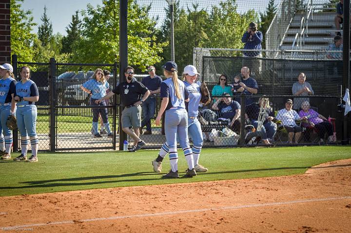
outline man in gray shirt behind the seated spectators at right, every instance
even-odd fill
[[[297,80],[298,82],[292,85],[292,94],[294,96],[308,96],[314,94],[311,84],[306,82],[306,75],[304,73],[300,73]],[[310,102],[310,98],[294,98],[293,109],[300,109],[304,101]]]

